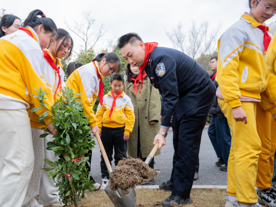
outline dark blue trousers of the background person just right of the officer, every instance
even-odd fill
[[[231,131],[225,117],[212,116],[208,135],[218,158],[223,158],[225,165],[231,148]]]

